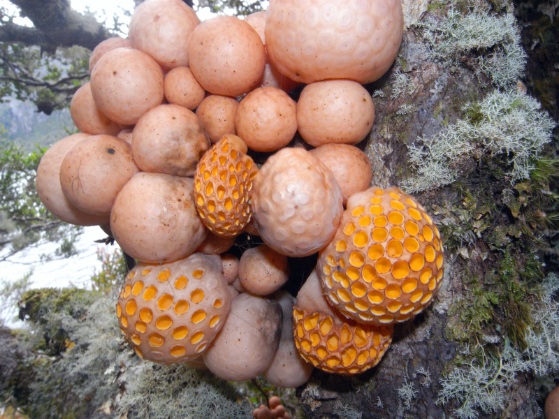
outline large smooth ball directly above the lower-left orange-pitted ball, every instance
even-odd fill
[[[208,230],[194,205],[194,179],[140,172],[119,192],[110,214],[117,243],[138,260],[164,263],[184,258]]]

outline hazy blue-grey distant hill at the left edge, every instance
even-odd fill
[[[8,140],[20,142],[29,151],[36,144],[52,145],[77,130],[68,109],[45,115],[37,112],[34,103],[15,100],[0,103],[0,124],[6,129]]]

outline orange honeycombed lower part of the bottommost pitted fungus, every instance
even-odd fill
[[[341,375],[375,367],[392,342],[392,325],[358,325],[321,311],[293,307],[293,336],[314,367]]]

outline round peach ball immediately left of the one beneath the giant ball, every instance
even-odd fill
[[[297,132],[296,102],[275,87],[254,89],[235,113],[237,135],[256,152],[275,152]]]

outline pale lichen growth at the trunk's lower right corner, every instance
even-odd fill
[[[518,373],[545,376],[558,372],[559,303],[553,299],[558,289],[558,277],[549,274],[542,286],[541,299],[532,304],[532,325],[526,333],[524,351],[507,342],[497,355],[482,351],[480,357],[452,369],[440,381],[437,404],[456,399],[460,406],[453,413],[459,419],[477,418],[479,410],[498,413],[504,409]],[[470,355],[468,347],[463,355]]]

